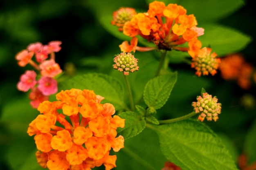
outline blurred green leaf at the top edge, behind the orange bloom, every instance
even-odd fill
[[[153,2],[154,0],[147,0]],[[167,6],[169,3],[182,5],[187,14],[194,14],[200,25],[201,22],[214,22],[233,13],[244,5],[243,0],[161,0]]]

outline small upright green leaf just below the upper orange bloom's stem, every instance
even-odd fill
[[[149,80],[145,86],[143,96],[148,107],[159,109],[164,106],[176,81],[177,72],[160,75]]]

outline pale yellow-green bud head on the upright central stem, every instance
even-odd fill
[[[131,53],[120,53],[116,55],[114,62],[113,67],[123,72],[124,75],[129,75],[129,72],[133,73],[139,70],[139,66],[137,66],[138,60]]]

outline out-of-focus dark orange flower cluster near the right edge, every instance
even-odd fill
[[[223,79],[234,80],[243,89],[249,89],[252,86],[252,77],[256,82],[256,73],[253,76],[254,67],[246,62],[244,56],[239,53],[223,57],[219,70]]]

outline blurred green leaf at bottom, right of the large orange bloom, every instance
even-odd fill
[[[161,170],[166,161],[160,150],[157,135],[148,128],[125,140],[124,148],[115,154],[115,170]]]

